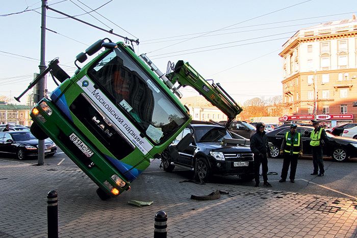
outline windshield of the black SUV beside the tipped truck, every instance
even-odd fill
[[[228,130],[224,127],[195,127],[195,138],[197,142],[221,142],[224,138],[232,139]]]

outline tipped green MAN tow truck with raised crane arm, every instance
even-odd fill
[[[130,46],[108,38],[76,57],[74,75],[58,63],[51,61],[15,99],[46,73],[57,78],[61,84],[30,113],[32,134],[39,140],[51,138],[97,184],[103,200],[129,190],[150,160],[159,158],[190,123],[189,110],[179,100],[181,86],[197,90],[228,122],[242,111],[219,84],[209,84],[188,63],[179,61],[163,74],[145,55],[139,57]]]

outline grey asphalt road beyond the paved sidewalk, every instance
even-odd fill
[[[12,156],[4,156],[5,155],[0,154],[1,159],[16,161]],[[25,160],[24,162],[37,164],[37,158]],[[188,181],[193,178],[193,173],[191,171],[179,167],[176,167],[171,173],[165,172],[160,168],[160,163],[160,160],[154,160],[144,173],[162,177],[176,176],[182,179],[182,181]],[[78,169],[78,167],[60,149],[55,156],[46,157],[45,164]],[[283,160],[281,158],[268,159],[269,172],[272,172],[272,174],[268,175],[268,180],[273,185],[273,190],[357,199],[357,186],[355,186],[355,179],[357,178],[357,158],[352,158],[349,162],[338,163],[331,160],[331,158],[326,157],[324,158],[325,176],[317,177],[316,175],[310,175],[313,171],[312,157],[304,156],[298,161],[295,183],[291,183],[289,179],[283,183],[278,182],[281,175],[282,165]],[[275,175],[274,172],[277,174]],[[243,182],[237,176],[214,176],[210,180],[210,183],[254,186],[254,181]],[[261,187],[266,189],[262,185],[263,184],[261,183]],[[199,186],[199,184],[197,184],[197,186]]]

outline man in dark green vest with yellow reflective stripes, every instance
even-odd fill
[[[296,132],[296,124],[290,125],[290,131],[285,134],[282,147],[280,148],[280,154],[284,154],[282,175],[279,182],[285,182],[288,176],[288,170],[290,166],[290,182],[295,182],[295,174],[297,167],[297,159],[302,155],[302,143],[301,135]]]

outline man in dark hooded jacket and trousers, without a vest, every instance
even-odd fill
[[[257,133],[250,138],[250,149],[254,154],[254,178],[256,179],[256,187],[259,187],[259,171],[262,164],[263,185],[272,187],[268,182],[268,157],[269,152],[268,138],[265,135],[265,124],[258,123],[256,125]]]

